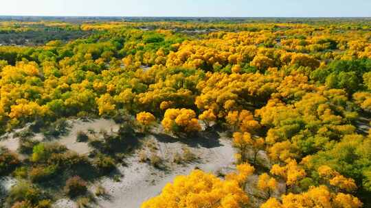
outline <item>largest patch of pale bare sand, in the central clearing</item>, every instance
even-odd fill
[[[181,150],[184,144],[181,142],[160,142],[158,154],[165,159],[166,164],[170,164],[172,155]],[[166,170],[158,170],[150,164],[138,161],[137,155],[128,158],[128,166],[119,168],[123,175],[120,182],[115,182],[108,177],[102,179],[100,183],[106,188],[109,198],[99,198],[99,207],[110,208],[137,208],[153,196],[158,195],[166,183],[172,182],[179,174],[189,174],[194,168],[198,167],[206,172],[217,172],[223,168],[232,167],[234,162],[234,148],[230,140],[220,139],[220,144],[211,148],[203,146],[189,147],[199,160],[185,165],[168,165]]]

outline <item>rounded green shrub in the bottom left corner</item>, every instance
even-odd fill
[[[8,194],[7,202],[13,205],[16,202],[27,201],[31,205],[37,205],[41,200],[45,200],[43,192],[27,181],[19,181],[12,187]]]

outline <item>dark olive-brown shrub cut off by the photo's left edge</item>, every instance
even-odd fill
[[[16,166],[19,166],[21,162],[14,153],[6,149],[0,149],[0,176],[9,174]]]

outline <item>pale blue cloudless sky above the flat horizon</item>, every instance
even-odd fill
[[[0,16],[370,17],[371,0],[0,0]]]

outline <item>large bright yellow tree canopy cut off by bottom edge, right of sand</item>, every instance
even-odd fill
[[[212,174],[194,170],[176,177],[159,196],[150,198],[142,208],[242,208],[249,198],[236,181],[221,180]]]

